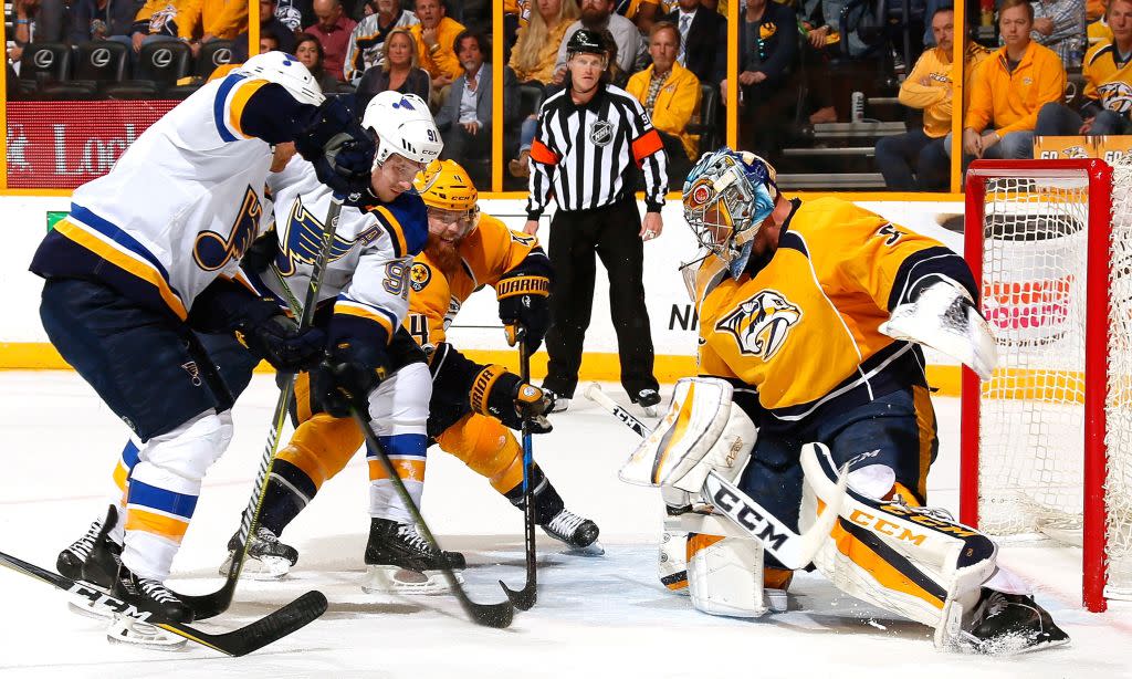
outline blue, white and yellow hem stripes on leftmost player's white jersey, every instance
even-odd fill
[[[55,224],[55,231],[129,275],[122,280],[122,276],[113,276],[103,270],[100,273],[101,278],[117,283],[127,294],[134,293],[130,296],[160,298],[162,306],[168,307],[181,320],[189,317],[185,300],[169,281],[169,272],[129,233],[89,209],[74,204],[70,214]],[[130,280],[134,285],[129,284]]]

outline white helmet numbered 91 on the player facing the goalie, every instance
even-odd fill
[[[415,94],[386,91],[369,100],[361,127],[377,135],[374,165],[393,154],[427,166],[440,157],[444,141],[424,100]]]

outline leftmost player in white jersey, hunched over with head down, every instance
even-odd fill
[[[143,442],[112,592],[162,619],[194,618],[163,582],[205,471],[231,438],[230,395],[194,330],[239,332],[284,370],[323,354],[321,333],[298,328],[238,276],[260,229],[272,145],[291,141],[338,190],[369,177],[372,140],[349,109],[326,101],[293,57],[250,59],[77,189],[32,261],[46,278],[40,313],[52,344]]]

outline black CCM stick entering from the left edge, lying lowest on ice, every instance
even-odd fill
[[[126,603],[121,599],[117,599],[89,585],[75,582],[69,577],[63,577],[58,573],[40,568],[34,564],[28,564],[3,552],[0,552],[0,566],[6,566],[16,573],[34,577],[63,592],[87,599],[92,608],[97,605],[110,609],[115,614],[160,627],[190,642],[233,656],[247,655],[252,651],[258,651],[273,642],[277,642],[326,612],[326,596],[321,592],[307,592],[291,603],[250,625],[223,634],[208,634],[180,622],[164,621],[156,613],[139,611],[136,607]]]

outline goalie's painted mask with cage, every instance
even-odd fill
[[[696,240],[738,277],[778,198],[774,167],[753,153],[705,153],[684,182],[684,218]]]

